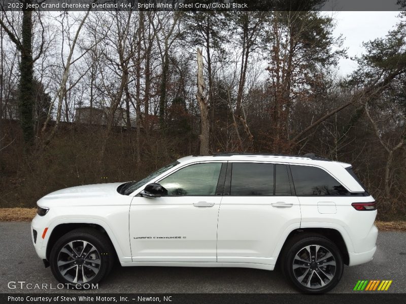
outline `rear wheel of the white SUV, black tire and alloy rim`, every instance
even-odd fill
[[[317,247],[313,245],[321,246],[315,259],[312,259],[312,256]],[[327,251],[331,253],[332,257],[323,259],[324,256],[329,256]],[[296,256],[296,254],[298,255]],[[296,235],[286,243],[281,255],[281,269],[285,278],[293,287],[304,293],[327,292],[340,282],[343,275],[344,263],[339,248],[321,235],[304,233]],[[310,259],[309,263],[305,262],[308,258]],[[318,258],[320,264],[325,265],[319,266],[317,264]],[[314,277],[310,277],[311,275]],[[307,285],[309,278],[310,287]]]

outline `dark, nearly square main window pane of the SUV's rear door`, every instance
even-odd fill
[[[274,195],[274,164],[233,163],[230,195]]]

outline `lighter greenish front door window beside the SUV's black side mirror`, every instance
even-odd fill
[[[168,196],[215,195],[221,163],[195,164],[182,168],[159,181]]]

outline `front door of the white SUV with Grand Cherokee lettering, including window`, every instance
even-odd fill
[[[167,196],[133,198],[129,215],[133,261],[216,261],[222,165],[187,165],[157,181]]]

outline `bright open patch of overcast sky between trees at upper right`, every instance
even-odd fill
[[[348,47],[349,57],[364,52],[363,41],[383,37],[397,23],[399,12],[326,12],[334,17],[337,26],[335,35],[343,34],[344,47]],[[351,59],[341,59],[339,73],[345,76],[351,73],[357,64]]]

